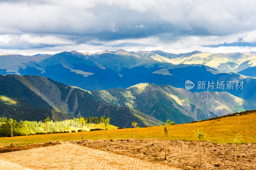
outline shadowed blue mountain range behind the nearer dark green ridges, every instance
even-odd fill
[[[157,52],[162,54],[159,51]],[[145,57],[147,53],[151,54],[153,52],[132,53],[124,50],[114,52],[105,50],[91,55],[71,51],[55,55],[33,56],[35,58],[20,56],[20,58],[24,58],[24,62],[20,62],[21,59],[17,55],[2,55],[0,56],[0,63],[5,66],[1,68],[0,74],[39,75],[69,86],[77,86],[84,90],[127,88],[140,83],[185,88],[186,80],[194,82],[195,85],[197,85],[198,81],[205,81],[206,83],[213,81],[215,86],[218,81],[243,81],[243,89],[241,90],[234,89],[234,87],[233,89],[226,89],[226,87],[224,89],[207,89],[206,86],[204,89],[194,88],[190,91],[225,91],[239,98],[256,102],[255,78],[238,73],[221,72],[202,64],[175,65],[160,62],[156,59]],[[193,52],[186,55],[191,56],[194,53],[198,54]],[[143,57],[141,57],[142,54],[144,54]],[[164,54],[167,55],[166,53]],[[12,59],[13,57],[16,59]],[[183,54],[183,57],[185,57],[185,54]]]

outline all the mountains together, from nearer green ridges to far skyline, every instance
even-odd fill
[[[255,59],[253,52],[122,49],[0,55],[0,114],[32,120],[36,113],[28,108],[36,108],[56,120],[108,115],[113,125],[130,127],[132,120],[140,126],[186,123],[256,109]],[[185,90],[187,80],[194,88]],[[225,87],[218,88],[220,82]]]

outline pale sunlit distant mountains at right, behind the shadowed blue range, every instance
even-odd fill
[[[256,66],[256,55],[251,53],[211,54],[194,51],[175,55],[163,51],[141,51],[134,55],[173,64],[203,64],[222,72],[239,72]],[[246,76],[256,77],[256,74],[247,72]]]

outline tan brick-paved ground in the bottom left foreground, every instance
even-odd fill
[[[1,153],[0,169],[179,170],[70,143]]]

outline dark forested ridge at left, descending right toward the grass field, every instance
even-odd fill
[[[40,121],[47,116],[65,119],[66,114],[69,117],[106,115],[111,118],[111,124],[124,128],[131,127],[133,120],[137,121],[140,127],[156,126],[161,122],[129,107],[100,102],[89,91],[70,87],[49,78],[7,75],[0,76],[0,81],[0,103],[12,107],[0,114],[9,118]],[[15,112],[12,111],[14,108]],[[52,112],[58,113],[58,116],[54,117]]]

